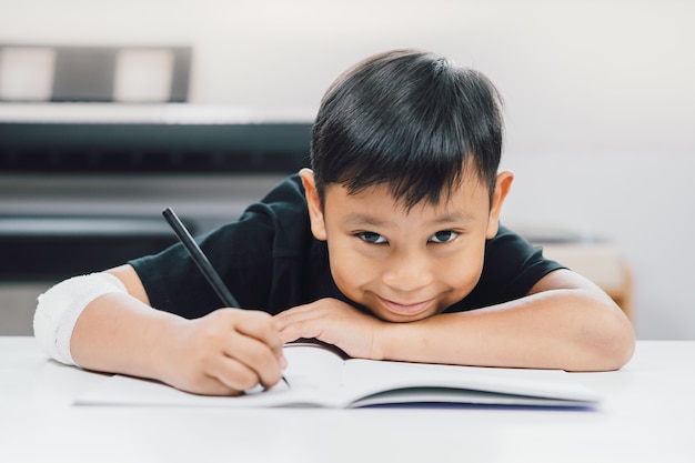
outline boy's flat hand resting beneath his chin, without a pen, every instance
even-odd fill
[[[298,305],[275,315],[283,342],[315,338],[360,359],[383,358],[380,333],[384,323],[330,298]]]

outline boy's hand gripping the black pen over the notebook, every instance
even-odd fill
[[[238,395],[282,378],[286,361],[271,315],[260,311],[220,309],[197,320],[181,320],[161,343],[165,359],[160,378],[183,391]]]

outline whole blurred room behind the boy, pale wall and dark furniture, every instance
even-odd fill
[[[503,94],[502,220],[615,286],[639,339],[695,339],[693,18],[685,0],[0,0],[0,334],[31,333],[58,279],[165,245],[167,205],[195,232],[233,219],[305,163],[340,72],[415,47]],[[83,48],[99,64],[68,60]]]

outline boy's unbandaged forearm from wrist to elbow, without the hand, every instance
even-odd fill
[[[603,371],[632,356],[629,320],[584,290],[553,290],[384,330],[385,359],[483,366]]]

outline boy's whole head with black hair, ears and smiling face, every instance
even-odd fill
[[[481,73],[393,51],[323,99],[313,172],[300,172],[314,236],[343,294],[392,322],[422,320],[480,280],[513,180],[497,173],[500,98]]]

